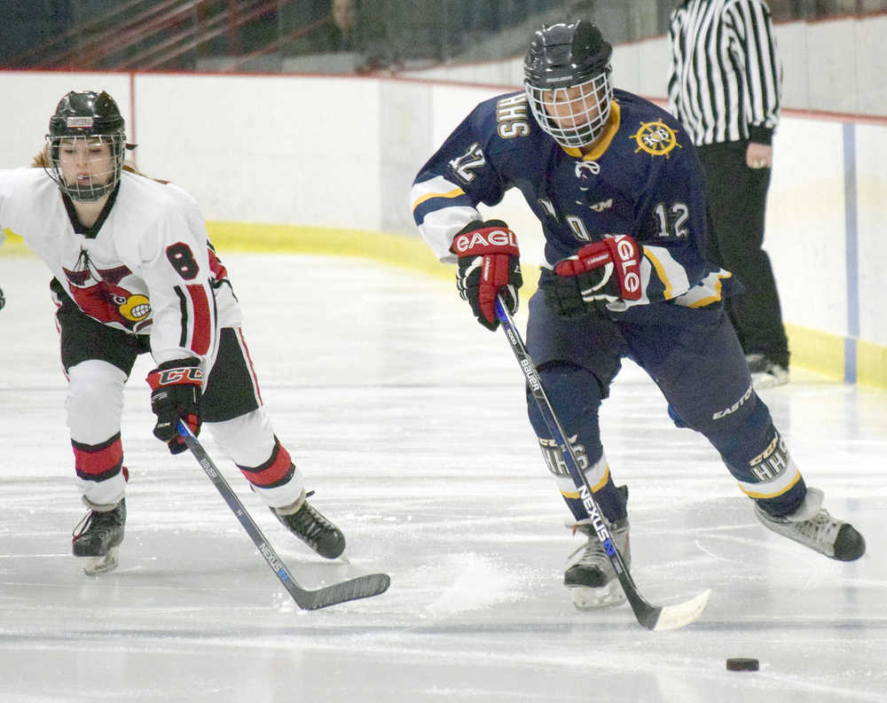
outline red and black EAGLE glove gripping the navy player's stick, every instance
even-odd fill
[[[452,239],[450,250],[459,256],[456,287],[468,301],[480,324],[498,327],[496,296],[505,293],[508,310],[517,312],[517,289],[523,285],[517,238],[501,220],[467,224]]]

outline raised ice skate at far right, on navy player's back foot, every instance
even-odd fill
[[[755,514],[764,527],[838,561],[853,561],[866,553],[866,540],[853,526],[835,519],[822,507],[824,494],[807,488],[804,503],[790,515],[774,518],[756,503]]]

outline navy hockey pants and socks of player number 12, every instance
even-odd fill
[[[742,347],[723,307],[644,307],[642,321],[630,322],[625,318],[631,313],[606,310],[563,320],[546,306],[541,291],[530,299],[530,355],[601,510],[611,520],[624,516],[624,499],[616,491],[600,441],[598,410],[627,357],[655,381],[679,426],[703,434],[718,449],[743,492],[767,512],[792,512],[804,499],[804,480],[770,411],[751,387]],[[561,494],[582,519],[585,511],[576,489],[529,394],[528,408]],[[646,441],[642,418],[633,417],[631,407],[623,414],[622,425],[637,433],[636,441]],[[692,465],[687,468],[693,470]]]

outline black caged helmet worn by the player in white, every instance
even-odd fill
[[[86,145],[108,145],[110,147],[110,165],[104,155],[97,157],[94,167],[82,179],[77,178],[70,184],[62,176],[59,155],[63,145],[75,146],[78,140]],[[62,192],[69,198],[81,201],[98,200],[114,190],[123,169],[123,158],[126,152],[126,134],[123,116],[114,98],[104,90],[72,90],[59,100],[55,113],[50,118],[50,131],[46,135],[46,156],[50,167],[47,173],[51,176]],[[98,170],[95,170],[98,168]]]

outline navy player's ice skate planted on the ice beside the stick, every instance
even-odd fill
[[[625,600],[625,593],[607,552],[594,532],[590,519],[573,524],[574,531],[587,535],[588,539],[567,559],[563,574],[565,585],[578,610],[593,610],[618,605]],[[628,540],[628,518],[610,524],[610,534],[616,549],[622,554],[625,566],[632,566],[632,551]]]

